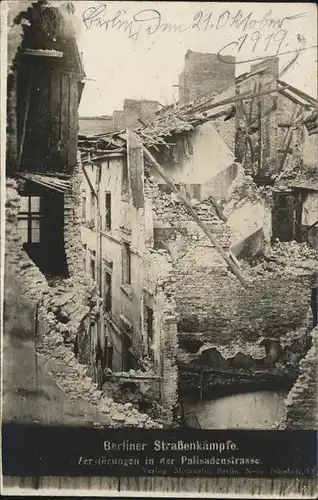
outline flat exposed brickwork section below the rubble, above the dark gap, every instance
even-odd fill
[[[243,289],[225,269],[194,268],[192,261],[185,270],[181,264],[176,269],[175,299],[182,331],[191,329],[203,332],[207,341],[231,343],[240,337],[279,338],[307,322],[309,277],[268,273]]]

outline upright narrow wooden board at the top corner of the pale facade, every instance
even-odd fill
[[[143,149],[138,137],[129,129],[127,129],[127,159],[133,205],[142,208],[144,206]]]

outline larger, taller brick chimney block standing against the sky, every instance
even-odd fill
[[[185,56],[184,70],[179,76],[179,104],[218,93],[235,83],[235,57],[192,52]]]

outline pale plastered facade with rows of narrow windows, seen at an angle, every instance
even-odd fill
[[[164,414],[165,421],[171,422],[177,390],[177,319],[173,320],[173,306],[168,306],[162,289],[163,283],[161,287],[158,284],[160,275],[164,278],[164,268],[156,265],[156,255],[150,252],[153,242],[151,200],[146,198],[143,207],[134,206],[130,186],[127,191],[124,181],[125,162],[124,155],[119,155],[110,156],[95,165],[84,164],[92,186],[97,186],[100,172],[97,188],[99,200],[95,208],[92,207],[90,187],[82,175],[82,193],[86,193],[83,198],[86,221],[82,221],[82,244],[86,250],[85,270],[91,273],[90,259],[94,256],[94,279],[99,283],[101,277],[104,303],[98,339],[95,342],[100,343],[102,349],[106,345],[112,347],[112,363],[108,368],[116,376],[121,373],[124,376],[126,373],[126,377],[134,379],[134,374],[138,374],[136,370],[143,368],[149,376],[158,377],[156,397],[162,405],[161,413]],[[108,207],[105,205],[106,193],[110,195]],[[107,219],[108,226],[107,210],[111,211],[110,219]],[[93,215],[95,221],[92,221]],[[102,228],[100,234],[97,226],[99,215]],[[158,256],[159,259],[162,257],[160,254]],[[106,302],[106,274],[110,276],[110,302]],[[145,324],[145,307],[153,317],[150,331],[147,331]],[[129,351],[125,340],[127,334],[131,344]],[[110,379],[106,377],[105,391],[109,388],[109,383]],[[136,381],[131,383],[138,384]],[[115,397],[118,401],[122,400],[120,394]]]

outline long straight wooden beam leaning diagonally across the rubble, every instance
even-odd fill
[[[143,146],[143,152],[144,152],[145,158],[154,167],[154,169],[157,171],[157,173],[160,175],[160,177],[165,181],[165,183],[170,187],[171,191],[173,191],[177,195],[177,197],[181,200],[181,202],[183,203],[183,206],[185,207],[187,212],[191,215],[191,217],[196,221],[198,226],[202,229],[202,231],[209,238],[212,245],[219,252],[219,254],[222,256],[222,258],[225,260],[225,262],[227,263],[228,267],[233,272],[233,274],[235,274],[235,276],[238,278],[240,283],[246,288],[248,286],[248,282],[246,281],[245,277],[242,275],[242,273],[241,273],[239,267],[237,266],[237,264],[235,263],[235,261],[231,258],[230,255],[228,255],[224,251],[222,246],[219,244],[219,242],[213,236],[211,231],[207,228],[205,223],[195,213],[195,211],[193,210],[193,207],[189,203],[189,201],[181,194],[179,189],[176,188],[175,184],[166,175],[164,168],[157,162],[157,160],[152,156],[152,154],[148,151],[148,149],[145,148],[145,146]]]

